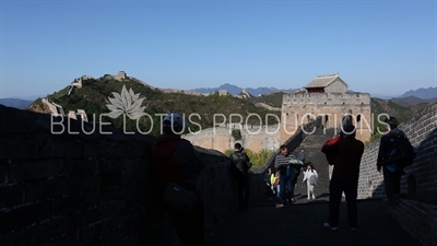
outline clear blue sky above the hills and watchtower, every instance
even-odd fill
[[[437,86],[433,1],[20,1],[1,10],[0,97],[123,70],[157,87]]]

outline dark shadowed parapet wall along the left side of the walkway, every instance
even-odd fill
[[[153,245],[175,238],[154,202],[146,151],[152,137],[110,127],[103,128],[106,134],[87,134],[82,126],[91,132],[91,125],[76,120],[55,125],[56,132],[66,131],[52,134],[50,115],[1,105],[0,115],[0,245]],[[197,150],[205,164],[199,185],[211,232],[236,209],[236,187],[228,157]],[[260,197],[259,178],[252,176],[251,202]]]

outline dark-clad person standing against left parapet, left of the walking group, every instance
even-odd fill
[[[238,208],[239,210],[247,210],[250,195],[249,169],[252,164],[239,142],[234,144],[234,153],[232,153],[229,157],[233,161],[236,173],[235,178],[237,180]]]

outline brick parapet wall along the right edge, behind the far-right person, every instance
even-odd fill
[[[402,202],[390,211],[425,245],[436,245],[437,104],[428,106],[399,128],[406,133],[420,152],[413,165],[406,167],[406,174],[402,176]],[[376,169],[378,150],[379,140],[366,145],[359,171],[358,198],[361,199],[385,198],[383,177]]]

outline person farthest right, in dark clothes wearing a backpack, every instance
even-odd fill
[[[377,169],[383,175],[386,197],[389,202],[398,200],[401,191],[403,168],[411,165],[415,157],[415,149],[411,145],[405,132],[398,128],[395,117],[385,119],[388,132],[381,137],[377,159]]]

